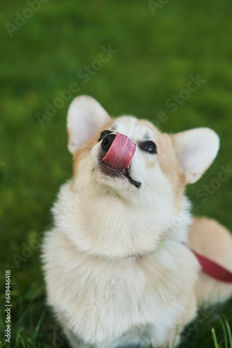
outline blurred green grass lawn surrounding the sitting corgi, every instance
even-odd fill
[[[168,120],[160,129],[165,132],[215,129],[221,138],[219,155],[206,175],[188,187],[188,196],[196,214],[211,216],[232,230],[231,177],[212,181],[220,166],[231,163],[231,0],[35,2],[8,1],[0,13],[0,299],[3,305],[5,269],[10,269],[10,347],[58,347],[59,329],[48,310],[44,314],[39,246],[52,221],[50,208],[60,184],[72,175],[66,115],[76,95],[92,95],[112,116],[127,113],[157,123],[163,112]],[[94,61],[109,46],[117,53],[99,68]],[[91,70],[83,78],[86,66]],[[190,76],[197,74],[205,82],[194,92],[183,92]],[[46,103],[56,104],[58,91],[74,82],[78,93],[71,93],[48,118]],[[179,95],[175,112],[170,106],[173,95]],[[43,125],[38,113],[47,117]],[[211,192],[207,202],[204,185]],[[35,250],[28,250],[29,245]],[[217,313],[231,322],[231,312],[231,303],[215,309],[187,330],[181,347],[213,347],[211,327],[222,337]],[[2,313],[0,347],[6,347],[4,318]]]

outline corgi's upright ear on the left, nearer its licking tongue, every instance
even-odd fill
[[[106,110],[88,95],[76,97],[67,112],[68,149],[73,155],[110,121]]]

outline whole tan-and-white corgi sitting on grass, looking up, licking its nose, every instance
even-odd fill
[[[71,347],[176,347],[197,306],[232,295],[192,252],[232,270],[231,234],[193,218],[185,196],[219,137],[110,118],[85,95],[69,106],[67,132],[74,175],[58,193],[42,251],[49,306]]]

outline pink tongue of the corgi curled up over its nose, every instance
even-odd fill
[[[135,149],[136,144],[128,136],[117,133],[103,161],[116,169],[129,168]]]

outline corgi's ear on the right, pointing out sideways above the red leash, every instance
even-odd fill
[[[172,137],[176,155],[185,172],[185,183],[192,184],[199,180],[217,156],[219,136],[210,128],[196,128]]]

